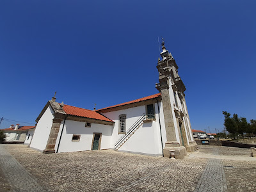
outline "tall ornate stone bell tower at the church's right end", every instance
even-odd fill
[[[162,60],[158,58],[157,63],[159,83],[156,88],[161,92],[164,112],[166,142],[163,152],[164,157],[174,152],[175,158],[182,159],[187,152],[196,150],[184,94],[186,88],[178,74],[179,67],[164,42],[162,50]]]

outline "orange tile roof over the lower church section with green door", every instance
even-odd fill
[[[106,122],[113,122],[113,120],[106,118],[106,116],[100,115],[96,111],[92,111],[89,109],[77,108],[77,107],[68,106],[68,105],[64,105],[63,109],[64,109],[65,113],[67,113],[68,115],[82,116],[82,117],[86,117],[86,118],[103,120]]]

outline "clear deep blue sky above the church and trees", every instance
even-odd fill
[[[157,93],[163,36],[193,129],[221,131],[222,111],[256,119],[255,8],[234,0],[2,0],[0,118],[34,123],[55,91],[57,101],[87,109]],[[16,123],[3,120],[0,129]]]

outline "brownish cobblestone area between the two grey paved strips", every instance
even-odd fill
[[[49,191],[194,191],[207,159],[168,159],[113,150],[42,154],[5,148]]]

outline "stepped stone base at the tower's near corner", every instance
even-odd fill
[[[187,150],[184,146],[179,146],[180,144],[177,141],[167,141],[165,143],[163,152],[164,157],[171,157],[172,152],[174,151],[175,159],[183,159],[187,155]]]

